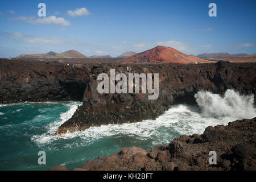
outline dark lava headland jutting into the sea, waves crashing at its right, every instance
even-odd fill
[[[110,68],[116,73],[125,73],[126,67],[132,67],[132,73],[159,73],[159,97],[148,100],[148,94],[99,94],[97,76],[100,73],[110,75]],[[175,103],[195,103],[194,95],[199,90],[224,93],[227,89],[238,90],[242,94],[255,94],[255,64],[122,64],[98,65],[90,69],[92,73],[85,89],[83,105],[73,117],[63,123],[57,135],[67,131],[88,129],[90,126],[110,123],[138,122],[143,119],[155,119],[170,105]]]

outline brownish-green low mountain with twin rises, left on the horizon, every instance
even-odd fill
[[[48,58],[85,58],[85,55],[82,55],[80,52],[70,50],[66,52],[48,52],[48,53],[39,53],[32,55],[19,55],[16,58],[35,58],[35,59],[48,59]]]

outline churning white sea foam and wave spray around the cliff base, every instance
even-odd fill
[[[61,114],[59,121],[48,125],[48,132],[46,134],[35,135],[32,137],[32,140],[37,144],[49,144],[59,139],[76,138],[76,141],[80,141],[68,143],[65,146],[68,148],[92,144],[94,141],[106,137],[118,138],[127,136],[139,140],[150,139],[152,144],[155,145],[170,142],[170,138],[174,134],[202,134],[208,126],[227,125],[228,122],[236,119],[253,118],[256,116],[255,108],[253,107],[253,96],[241,96],[233,90],[227,90],[224,97],[210,92],[199,92],[195,97],[203,113],[200,113],[198,108],[195,110],[191,106],[176,105],[172,106],[155,120],[90,127],[84,131],[55,136],[57,128],[75,113],[77,105],[72,105],[66,113]],[[240,111],[243,109],[246,109],[246,111]]]

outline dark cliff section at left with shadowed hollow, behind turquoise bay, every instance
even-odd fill
[[[81,101],[89,75],[83,65],[1,60],[0,104]]]

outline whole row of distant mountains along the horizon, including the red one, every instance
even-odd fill
[[[83,59],[86,58],[82,53],[70,50],[66,52],[48,52],[31,55],[20,55],[17,59],[31,59],[31,60],[47,60],[47,59]],[[108,59],[112,58],[110,55],[97,56],[93,55],[88,58]],[[247,55],[246,53],[230,54],[226,52],[219,53],[203,53],[197,56],[186,55],[171,47],[157,46],[150,50],[136,53],[125,52],[118,56],[122,58],[121,62],[134,62],[134,63],[212,63],[212,61],[230,61],[230,62],[256,62],[256,54]]]

